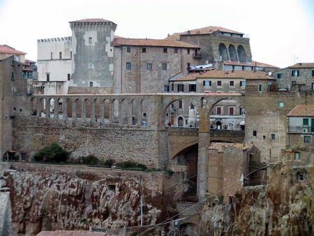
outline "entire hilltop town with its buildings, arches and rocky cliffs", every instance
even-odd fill
[[[69,24],[33,61],[0,45],[3,235],[313,232],[314,62],[223,27]]]

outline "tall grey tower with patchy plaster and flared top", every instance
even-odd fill
[[[114,31],[117,24],[103,19],[70,22],[72,76],[69,94],[112,93],[114,84]]]

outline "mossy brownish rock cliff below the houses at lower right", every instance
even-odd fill
[[[218,198],[209,197],[201,235],[313,235],[313,177],[313,166],[274,164],[269,185],[243,188],[239,203],[219,205]]]

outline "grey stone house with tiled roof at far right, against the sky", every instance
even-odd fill
[[[304,89],[314,90],[314,63],[297,63],[274,71],[272,76],[278,81],[279,89],[290,91],[294,84],[305,85]]]

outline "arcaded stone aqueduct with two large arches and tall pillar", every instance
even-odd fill
[[[171,129],[168,137],[165,112],[178,100],[193,103],[200,121],[198,131],[180,131],[188,135],[181,146],[174,147],[174,142],[179,143],[174,137],[181,134],[177,131],[176,135]],[[198,142],[197,196],[202,200],[207,189],[211,136],[220,141],[243,140],[242,132],[229,132],[226,138],[225,131],[210,130],[211,111],[223,100],[237,101],[245,107],[245,96],[241,94],[34,95],[29,98],[29,115],[17,115],[15,119],[14,132],[19,137],[15,150],[33,153],[58,142],[73,158],[94,154],[115,161],[130,160],[165,168],[175,152]],[[54,110],[50,112],[52,104]]]

